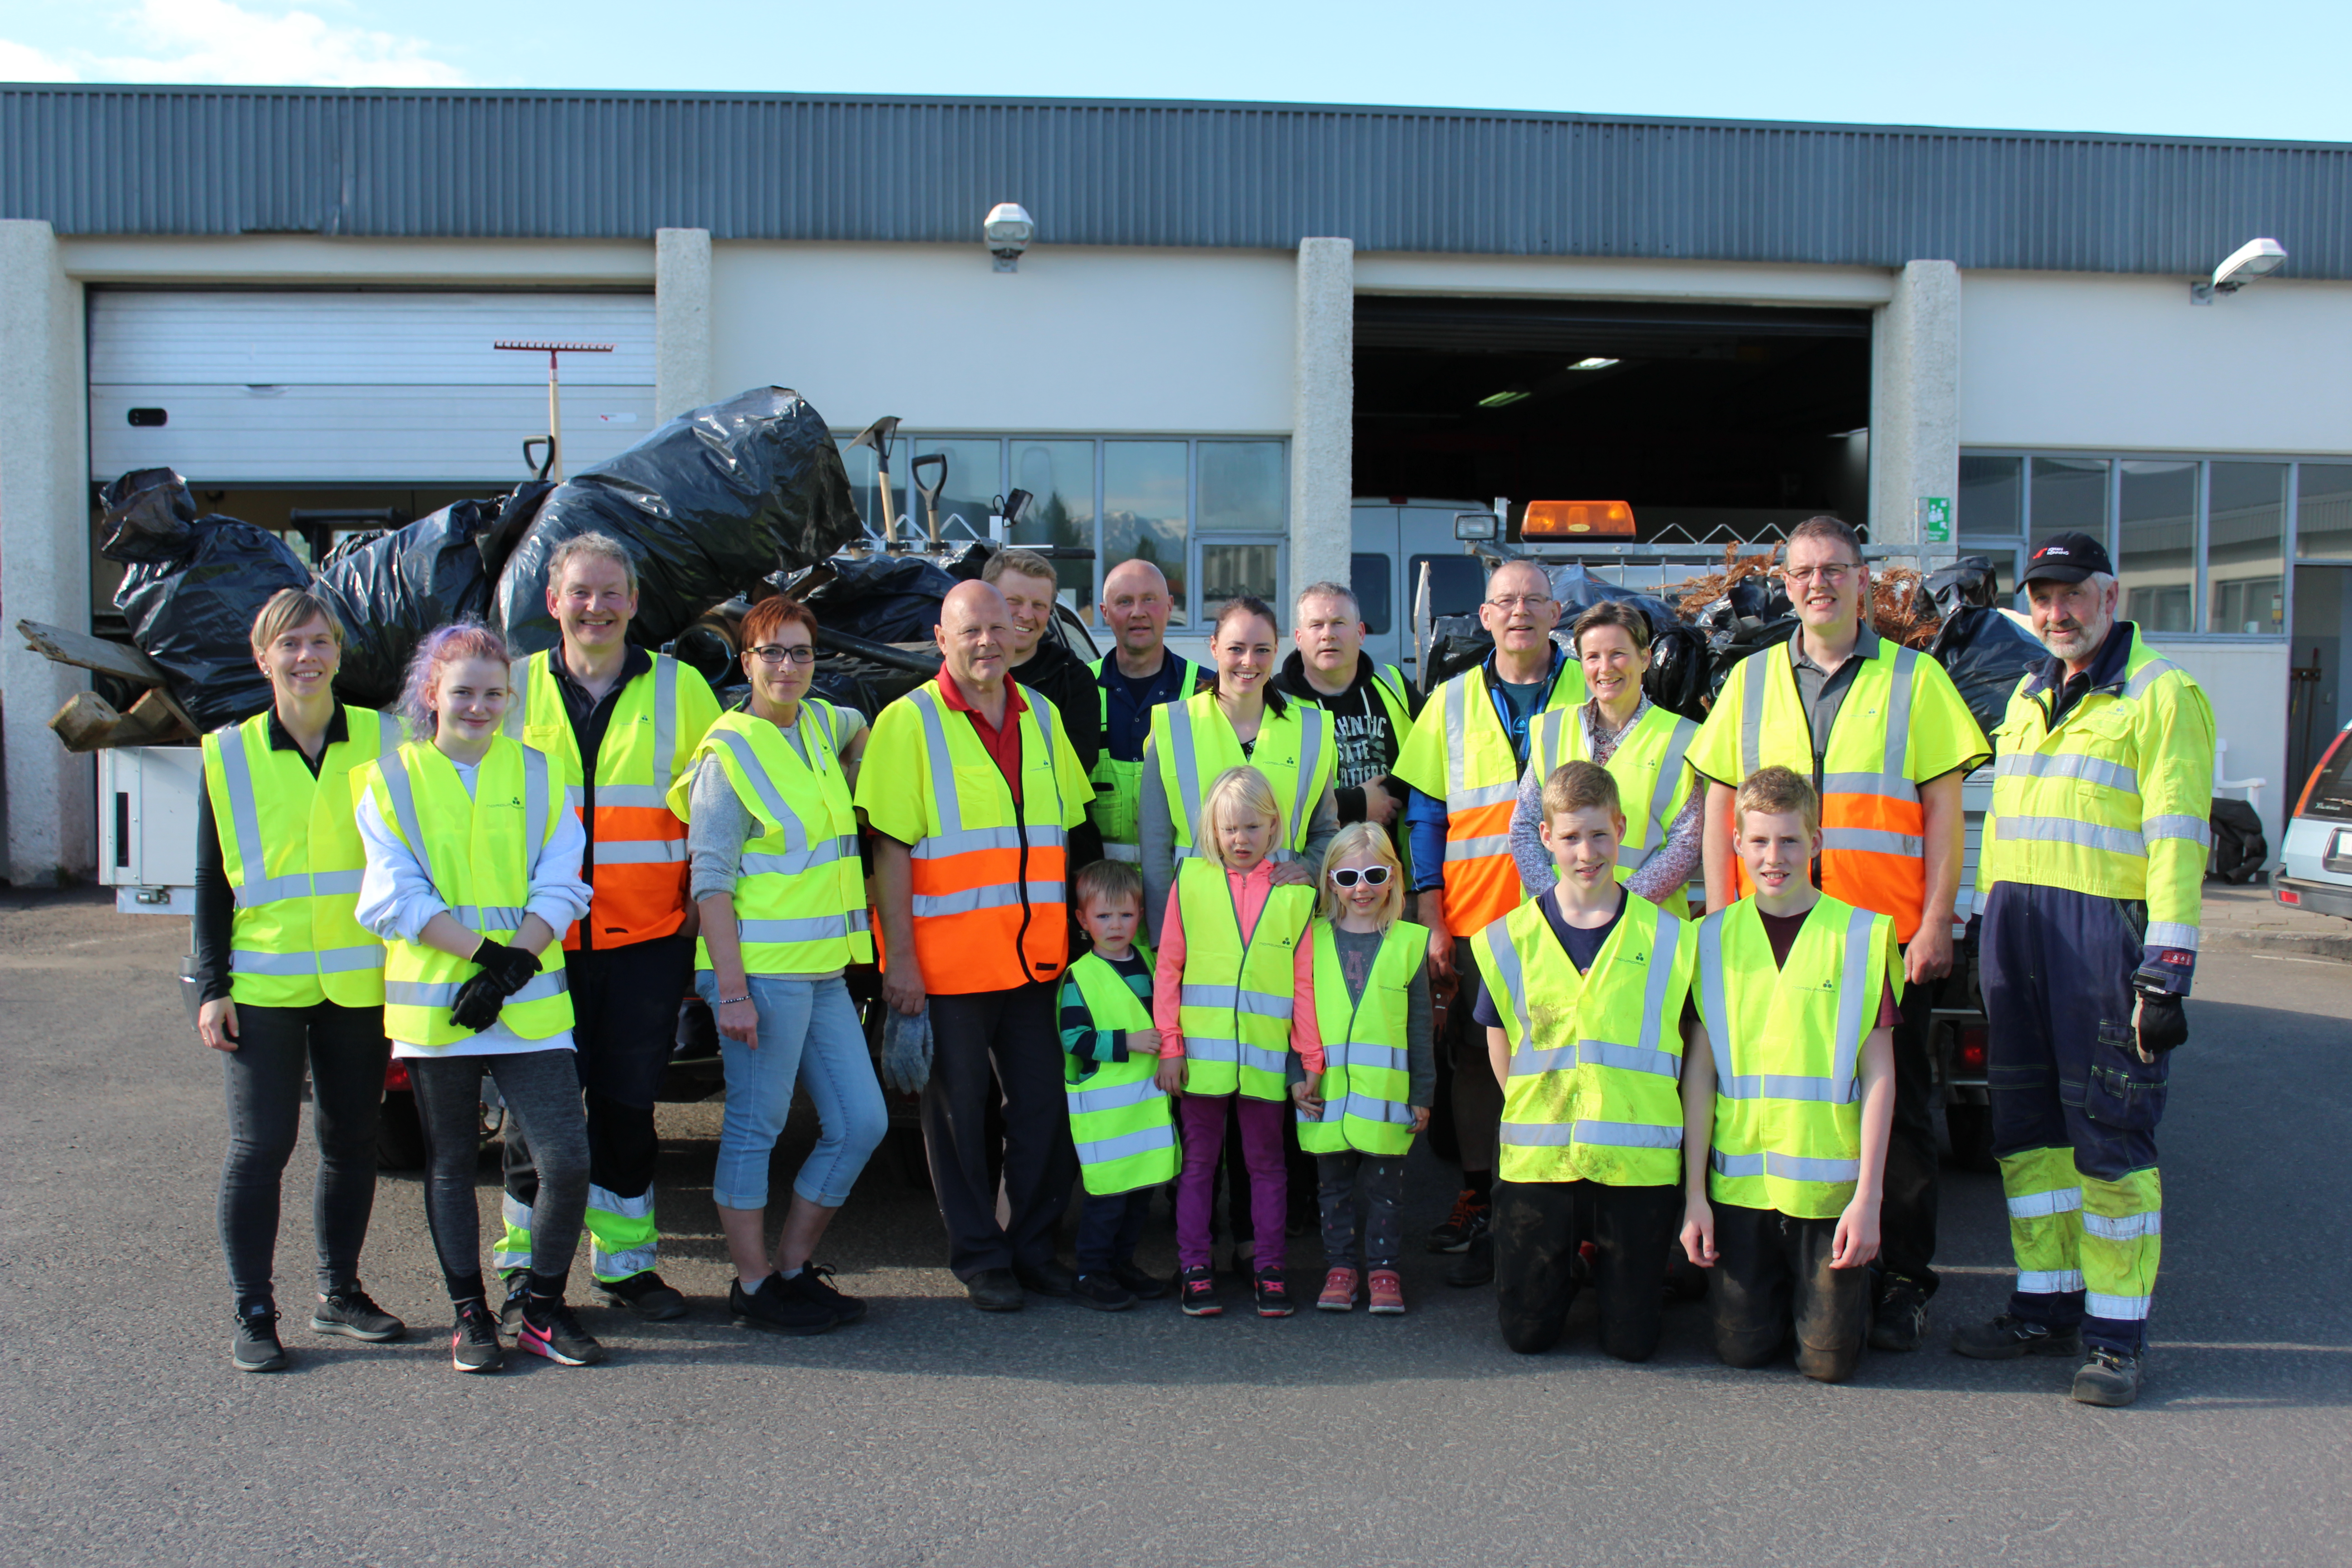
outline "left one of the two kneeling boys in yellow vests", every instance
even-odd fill
[[[1616,776],[1569,762],[1543,783],[1536,830],[1559,882],[1477,938],[1477,999],[1503,1084],[1494,1274],[1503,1342],[1550,1349],[1595,1241],[1602,1349],[1658,1349],[1665,1265],[1682,1220],[1682,1030],[1691,924],[1616,879]],[[1508,1009],[1508,1011],[1505,1011]]]

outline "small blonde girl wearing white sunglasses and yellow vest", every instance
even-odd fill
[[[1315,1307],[1350,1312],[1357,1281],[1371,1309],[1404,1312],[1404,1154],[1430,1124],[1430,933],[1404,919],[1404,865],[1383,827],[1350,823],[1322,863],[1322,907],[1308,943],[1315,1004],[1291,1044],[1322,1072],[1298,1095],[1298,1145],[1315,1154],[1324,1286]],[[1362,1185],[1362,1241],[1357,1187]],[[1369,1276],[1364,1272],[1369,1267]]]

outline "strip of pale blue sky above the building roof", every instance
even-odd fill
[[[0,80],[1258,99],[2352,141],[2352,5],[0,0]]]

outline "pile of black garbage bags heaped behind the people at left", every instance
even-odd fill
[[[576,534],[609,534],[635,557],[630,635],[654,646],[748,585],[811,567],[858,534],[833,433],[786,388],[682,414],[560,484],[532,482],[390,534],[355,536],[315,574],[275,531],[198,515],[169,468],[122,475],[101,503],[99,552],[127,567],[115,607],[205,729],[268,708],[249,632],[282,588],[315,585],[336,607],[336,693],[383,708],[397,698],[416,642],[437,625],[489,621],[517,656],[555,646],[548,557]]]

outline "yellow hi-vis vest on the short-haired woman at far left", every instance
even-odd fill
[[[360,926],[367,851],[353,780],[400,745],[400,722],[343,708],[343,741],[318,776],[268,741],[270,712],[205,736],[205,788],[221,827],[230,917],[228,994],[245,1006],[379,1006],[383,943]]]

